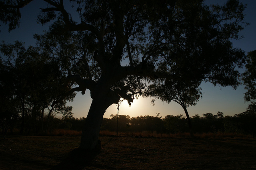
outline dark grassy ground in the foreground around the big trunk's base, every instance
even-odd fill
[[[0,139],[0,169],[256,169],[256,139],[100,137],[83,152],[80,137]]]

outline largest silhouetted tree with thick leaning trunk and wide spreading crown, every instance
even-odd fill
[[[15,29],[21,17],[19,9],[31,1],[1,1],[1,21]],[[92,98],[81,149],[98,146],[105,110],[120,97],[131,104],[134,95],[142,94],[145,79],[150,84],[167,80],[190,86],[204,80],[238,85],[236,66],[242,66],[244,52],[233,48],[230,41],[240,38],[238,32],[246,24],[245,6],[238,0],[228,0],[222,6],[207,6],[204,0],[44,1],[48,5],[40,8],[38,22],[56,20],[55,36],[74,32],[80,41],[80,55],[67,58],[77,61],[78,74],[67,71],[66,86],[70,93],[84,94],[89,89]],[[68,13],[66,7],[72,5],[79,21],[72,19],[74,13]]]

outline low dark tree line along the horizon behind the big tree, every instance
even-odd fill
[[[26,135],[51,135],[57,129],[82,131],[85,117],[75,118],[73,116],[50,117],[48,122],[47,133],[40,131],[40,120],[32,123],[32,119],[26,120],[24,132]],[[48,121],[47,117],[44,119]],[[17,131],[21,127],[21,119],[17,119],[10,127],[10,133],[13,129]],[[191,117],[193,133],[233,133],[244,134],[255,137],[256,135],[256,113],[245,111],[234,116],[226,115],[220,111],[215,115],[212,113],[204,113],[202,116],[195,114]],[[110,118],[103,118],[101,131],[117,131],[117,114],[111,115]],[[180,115],[159,116],[137,116],[130,117],[129,115],[118,115],[118,131],[119,132],[151,132],[158,134],[176,134],[189,133],[187,118]]]

